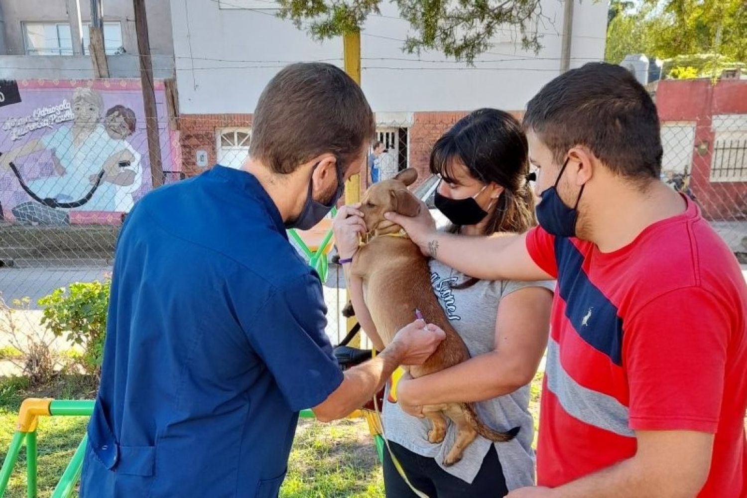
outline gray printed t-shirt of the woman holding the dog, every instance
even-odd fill
[[[465,341],[471,357],[495,349],[495,322],[500,299],[523,287],[544,287],[551,291],[554,289],[554,282],[551,281],[500,280],[481,280],[466,289],[453,289],[453,286],[461,284],[468,277],[434,260],[430,261],[430,271],[431,284],[438,296],[438,302],[444,308],[451,326]],[[486,375],[490,373],[486,372]],[[477,402],[480,420],[492,429],[508,430],[512,427],[521,427],[521,430],[516,438],[506,443],[492,443],[478,435],[465,449],[462,460],[450,467],[444,467],[442,463],[456,438],[456,429],[450,420],[447,419],[446,438],[441,444],[428,442],[430,420],[412,417],[402,411],[399,405],[389,402],[386,398],[382,421],[389,441],[394,441],[418,455],[435,458],[438,465],[447,473],[469,483],[477,476],[490,445],[495,444],[506,485],[512,490],[534,485],[534,426],[528,406],[529,385],[505,396]]]

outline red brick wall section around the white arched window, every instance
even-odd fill
[[[202,168],[196,165],[198,150],[208,152],[208,168],[217,162],[215,137],[218,128],[251,125],[251,114],[182,114],[179,118],[179,143],[185,174],[193,176],[202,172]]]

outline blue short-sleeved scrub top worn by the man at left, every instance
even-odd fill
[[[249,173],[158,188],[117,243],[81,497],[276,497],[342,382],[319,277]]]

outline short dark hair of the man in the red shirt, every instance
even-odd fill
[[[663,149],[651,96],[622,66],[586,63],[542,87],[527,105],[524,128],[562,164],[568,149],[589,147],[616,174],[659,178]]]

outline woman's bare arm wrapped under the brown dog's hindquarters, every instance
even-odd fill
[[[400,380],[397,401],[415,408],[482,401],[526,385],[548,343],[551,304],[552,293],[543,287],[524,287],[500,299],[493,351],[429,376]]]

